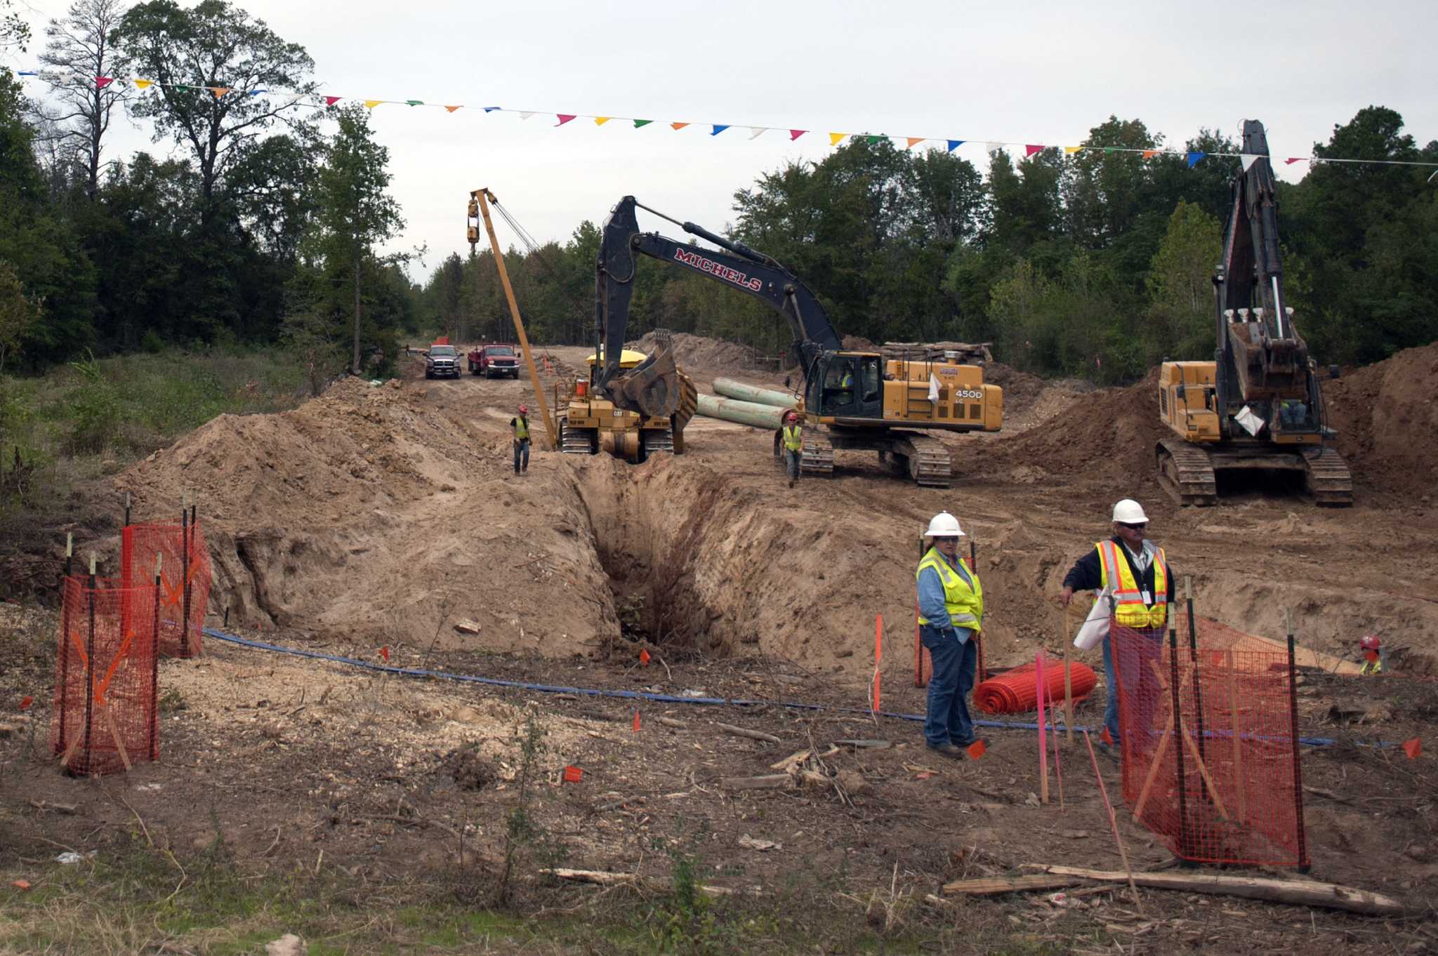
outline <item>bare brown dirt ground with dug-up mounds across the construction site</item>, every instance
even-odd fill
[[[779,384],[743,375],[719,345],[686,348],[705,391],[720,374]],[[548,349],[546,398],[587,352]],[[715,365],[697,364],[705,355]],[[217,418],[98,495],[118,509],[131,492],[135,520],[164,519],[181,492],[198,495],[216,568],[213,627],[229,614],[230,633],[285,647],[370,663],[385,647],[391,664],[571,690],[383,676],[209,638],[203,657],[162,664],[161,762],[73,781],[43,753],[53,625],[35,610],[0,612],[23,650],[0,693],[33,696],[26,716],[40,729],[39,743],[24,722],[0,742],[0,865],[35,884],[58,867],[42,863],[50,842],[114,850],[142,819],[145,840],[177,858],[219,841],[246,874],[303,868],[374,893],[397,881],[490,881],[532,720],[545,735],[529,762],[545,852],[666,883],[676,861],[693,861],[705,883],[732,891],[725,913],[759,919],[720,950],[1435,952],[1432,758],[1355,742],[1438,746],[1438,684],[1425,680],[1438,670],[1426,467],[1438,446],[1428,398],[1438,346],[1326,384],[1356,479],[1355,506],[1339,510],[1257,486],[1222,489],[1218,507],[1179,509],[1152,474],[1152,382],[1093,390],[1002,367],[991,375],[1007,388],[1007,428],[945,437],[958,472],[949,490],[915,487],[874,456],[844,451],[835,477],[789,490],[769,434],[707,418],[690,426],[684,456],[640,466],[548,451],[536,420],[529,472],[515,476],[508,420],[521,401],[535,407],[529,382],[424,381],[421,364],[380,388],[342,382],[292,413]],[[1314,878],[1399,897],[1412,917],[1162,891],[1143,893],[1142,911],[1110,891],[1064,907],[1047,894],[928,907],[925,894],[959,877],[1032,863],[1117,868],[1087,750],[1063,750],[1063,809],[1038,806],[1027,732],[994,730],[984,759],[949,763],[929,756],[912,722],[778,703],[864,707],[881,614],[884,707],[922,713],[913,565],[939,509],[976,542],[988,663],[1060,651],[1053,595],[1123,496],[1143,502],[1175,571],[1194,576],[1199,614],[1281,637],[1291,610],[1309,647],[1356,660],[1359,635],[1378,633],[1392,648],[1389,677],[1304,677],[1303,732],[1340,739],[1304,753],[1307,832]],[[114,541],[83,549],[112,561]],[[462,621],[479,633],[457,631]],[[1089,663],[1100,668],[1097,656]],[[585,689],[772,703],[651,703]],[[1102,703],[1102,693],[1086,702],[1080,722],[1097,723]],[[728,735],[720,722],[781,743]],[[824,759],[827,786],[722,782],[870,737],[892,745],[838,745]],[[582,768],[582,781],[564,783],[565,766]],[[1116,796],[1114,766],[1100,766]],[[46,811],[46,801],[76,812]],[[1136,868],[1169,860],[1119,817]],[[607,893],[532,891],[545,911]]]

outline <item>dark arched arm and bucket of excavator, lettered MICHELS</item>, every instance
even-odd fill
[[[666,219],[690,236],[697,236],[726,252],[700,249],[659,233],[641,233],[634,217],[636,207]],[[630,298],[634,295],[636,256],[650,256],[660,262],[684,266],[731,289],[751,295],[784,315],[794,332],[794,348],[805,378],[823,352],[843,348],[838,332],[824,313],[814,293],[794,273],[771,256],[710,233],[693,223],[680,223],[663,213],[641,206],[626,196],[604,220],[603,242],[595,269],[595,367],[594,387],[604,391],[623,408],[659,408],[656,401],[666,388],[661,385],[673,359],[651,355],[634,369],[620,369],[628,326]]]

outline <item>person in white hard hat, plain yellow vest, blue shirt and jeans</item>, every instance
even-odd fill
[[[919,588],[919,640],[929,648],[929,706],[923,739],[930,750],[962,760],[972,745],[974,719],[965,699],[974,690],[978,660],[974,638],[984,624],[984,587],[959,559],[963,529],[949,512],[939,512],[923,532],[933,543],[913,576]]]

